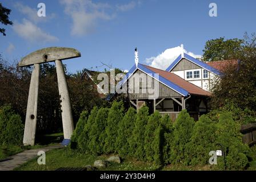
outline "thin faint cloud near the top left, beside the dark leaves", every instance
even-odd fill
[[[45,17],[39,17],[37,15],[38,9],[32,9],[31,7],[23,5],[20,2],[15,3],[14,7],[23,15],[26,15],[27,19],[31,20],[33,23],[46,22],[47,20],[53,19],[55,17],[54,13],[48,14],[47,11]]]

